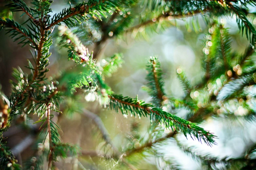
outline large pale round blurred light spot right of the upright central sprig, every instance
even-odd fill
[[[185,45],[177,46],[174,50],[174,63],[185,67],[191,67],[195,63],[194,51]]]

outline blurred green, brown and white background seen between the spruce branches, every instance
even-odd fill
[[[29,4],[29,1],[25,1]],[[77,4],[78,0],[71,1],[71,4]],[[0,16],[2,18],[14,18],[15,21],[22,23],[26,21],[24,17],[20,17],[22,12],[12,13],[8,10],[6,1],[0,2]],[[52,10],[54,13],[59,12],[63,7],[69,7],[68,2],[63,0],[55,0],[52,4]],[[142,9],[145,8],[143,3],[140,7],[133,10],[127,10],[124,12],[118,12],[114,14],[115,18],[111,23],[114,24],[120,17],[135,16],[135,20],[128,20],[130,24],[138,23],[139,21],[145,21],[145,13]],[[251,13],[256,12],[254,6],[250,6]],[[146,11],[147,12],[147,11]],[[154,14],[152,14],[154,15]],[[147,15],[148,16],[148,15]],[[131,17],[132,18],[132,17]],[[152,21],[157,19],[157,15],[150,16]],[[249,42],[245,36],[242,36],[239,28],[236,24],[234,17],[222,17],[222,18],[210,18],[209,20],[218,20],[224,25],[224,28],[228,28],[231,37],[231,50],[238,53],[243,53]],[[197,20],[198,25],[194,25]],[[130,23],[129,23],[130,22]],[[187,78],[191,81],[192,85],[200,82],[204,72],[201,68],[201,58],[204,56],[205,51],[205,37],[211,33],[203,17],[198,18],[189,17],[187,19],[174,19],[168,17],[158,24],[152,24],[150,27],[139,27],[135,30],[118,30],[112,31],[111,29],[105,31],[97,29],[97,22],[89,21],[87,24],[81,24],[75,28],[72,28],[78,34],[78,37],[89,51],[94,50],[95,56],[97,56],[97,64],[105,64],[111,62],[107,60],[107,57],[114,55],[115,53],[122,53],[123,63],[122,67],[118,68],[118,71],[109,75],[106,73],[105,81],[111,87],[111,89],[124,96],[136,97],[138,94],[139,99],[143,99],[146,102],[151,100],[151,97],[147,92],[142,90],[146,85],[146,70],[145,65],[148,62],[149,56],[158,55],[161,63],[164,90],[168,97],[183,97],[184,92],[177,77],[178,70],[182,70],[186,73]],[[256,25],[256,19],[251,21],[254,26]],[[119,22],[117,22],[119,23]],[[119,23],[120,24],[120,23]],[[108,27],[109,29],[109,27]],[[122,34],[119,34],[121,32]],[[107,33],[107,34],[106,34]],[[54,33],[58,37],[58,33]],[[118,35],[114,38],[109,37]],[[12,79],[12,68],[22,67],[26,71],[23,65],[26,65],[26,60],[31,58],[29,53],[29,47],[25,46],[21,48],[20,44],[13,42],[5,32],[0,32],[0,84],[2,85],[2,91],[5,94],[11,92],[9,80]],[[102,43],[104,42],[104,43]],[[59,74],[59,70],[68,70],[71,68],[72,62],[67,62],[66,50],[60,49],[60,46],[55,41],[49,65],[49,73],[47,76],[56,76]],[[103,50],[102,50],[103,49]],[[120,56],[119,56],[120,57]],[[108,77],[111,77],[108,78]],[[254,88],[255,92],[255,88]],[[72,169],[78,167],[78,169],[127,169],[122,163],[111,158],[113,149],[107,145],[105,147],[105,141],[101,137],[97,125],[94,121],[81,115],[77,112],[79,106],[86,108],[98,116],[100,116],[106,129],[110,133],[113,143],[121,151],[126,148],[140,148],[143,143],[143,138],[147,138],[151,132],[149,118],[139,118],[124,116],[122,114],[116,114],[114,111],[101,109],[98,101],[95,100],[96,95],[89,93],[86,96],[78,95],[75,99],[69,99],[65,101],[65,106],[68,107],[63,111],[63,115],[60,116],[58,121],[61,131],[60,135],[64,142],[77,144],[83,151],[97,151],[97,154],[106,154],[109,159],[99,157],[79,156],[78,159],[67,158],[64,161],[56,163],[59,169]],[[77,103],[77,101],[79,101]],[[89,103],[87,103],[89,101]],[[76,103],[76,105],[74,105]],[[78,106],[77,106],[78,105]],[[178,115],[182,117],[186,111],[181,110]],[[239,110],[238,110],[239,112]],[[69,114],[73,113],[73,114]],[[72,121],[70,121],[72,120]],[[165,140],[163,143],[154,145],[153,149],[139,152],[128,157],[130,163],[136,166],[138,169],[143,170],[158,170],[158,169],[207,169],[208,167],[202,167],[201,164],[193,159],[192,155],[186,154],[179,148],[182,144],[188,148],[193,148],[196,153],[200,155],[211,154],[219,159],[238,158],[244,155],[245,151],[256,143],[256,124],[255,120],[248,121],[243,117],[232,120],[225,116],[218,118],[207,119],[202,122],[202,126],[214,132],[218,136],[216,139],[217,145],[209,147],[205,144],[200,144],[197,141],[193,141],[184,137],[184,135],[176,135],[176,140],[173,138]],[[159,127],[160,129],[162,127]],[[169,129],[164,129],[164,133],[168,134]],[[5,134],[8,137],[9,146],[14,147],[17,143],[23,141],[23,136],[27,132],[21,130],[20,127],[13,126]],[[140,141],[141,139],[142,141]],[[40,147],[39,145],[36,147]],[[29,147],[23,150],[17,157],[20,163],[25,161],[33,150],[33,147]],[[104,149],[102,149],[104,148]],[[31,161],[33,161],[31,159]],[[175,164],[177,166],[175,166]],[[172,166],[171,166],[172,165]],[[73,166],[73,167],[72,167]],[[219,165],[222,167],[222,165]],[[239,169],[239,163],[233,165],[231,169]],[[129,168],[128,168],[129,169]]]

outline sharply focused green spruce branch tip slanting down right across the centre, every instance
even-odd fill
[[[181,119],[175,115],[167,113],[160,108],[153,107],[151,104],[145,104],[144,101],[138,101],[129,97],[123,97],[121,95],[109,95],[111,100],[110,108],[118,111],[118,108],[123,114],[130,112],[135,116],[150,116],[151,121],[162,122],[166,128],[171,127],[172,131],[180,131],[186,137],[189,134],[192,135],[201,142],[203,140],[207,145],[212,146],[215,143],[214,138],[216,137],[210,132],[205,131],[203,128],[196,126],[196,123],[191,123]],[[192,137],[193,139],[193,137]]]

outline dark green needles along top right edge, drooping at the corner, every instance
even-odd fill
[[[242,33],[245,33],[251,44],[255,45],[256,31],[247,19],[249,14],[248,5],[255,5],[254,0],[234,0],[234,1],[205,1],[205,0],[148,0],[145,1],[148,8],[155,10],[156,13],[167,16],[194,16],[202,13],[204,16],[223,16],[236,15],[236,22]],[[240,6],[241,4],[241,6]],[[164,15],[162,15],[164,17]]]

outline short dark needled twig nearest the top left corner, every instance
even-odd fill
[[[24,11],[26,13],[26,15],[32,19],[33,21],[35,21],[36,19],[33,16],[33,13],[31,11],[31,9],[29,9],[26,5],[26,3],[22,0],[9,0],[12,3],[8,4],[7,6],[11,8],[12,12],[16,12],[16,11]]]

